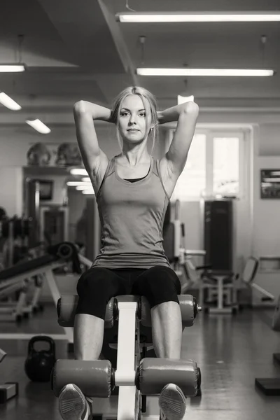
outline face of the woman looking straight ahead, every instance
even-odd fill
[[[127,96],[123,101],[119,117],[119,130],[123,140],[132,143],[144,140],[146,135],[146,121],[150,129],[151,110],[148,102],[145,102],[144,106],[141,97],[137,94]]]

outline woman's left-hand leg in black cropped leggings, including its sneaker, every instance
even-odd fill
[[[78,281],[79,296],[74,321],[74,353],[80,360],[97,360],[102,351],[106,306],[111,297],[125,294],[123,279],[115,272],[93,267]],[[89,420],[91,395],[83,395],[76,384],[59,394],[59,412],[64,420]]]

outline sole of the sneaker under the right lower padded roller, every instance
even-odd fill
[[[162,389],[158,404],[161,420],[181,420],[186,413],[186,397],[175,384],[167,384]]]

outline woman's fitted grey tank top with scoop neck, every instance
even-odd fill
[[[115,157],[109,160],[96,200],[101,248],[92,267],[170,267],[162,246],[162,227],[169,197],[162,183],[158,160],[151,157],[148,174],[134,180],[120,178]]]

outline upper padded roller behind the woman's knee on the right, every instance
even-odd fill
[[[192,327],[197,315],[197,302],[192,295],[179,295],[179,304],[182,314],[183,327]],[[144,327],[151,327],[151,308],[146,297],[141,296],[141,324]]]

